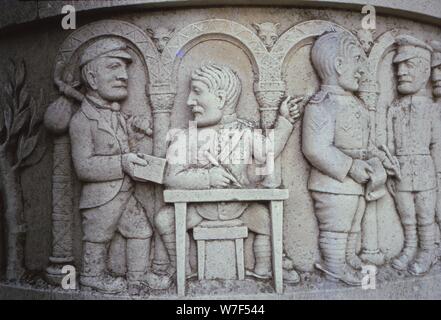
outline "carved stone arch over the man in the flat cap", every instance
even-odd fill
[[[162,68],[155,45],[142,29],[125,21],[101,20],[79,28],[64,40],[56,61],[69,65],[72,56],[83,44],[102,36],[117,36],[130,41],[142,57],[150,85],[158,82]]]

